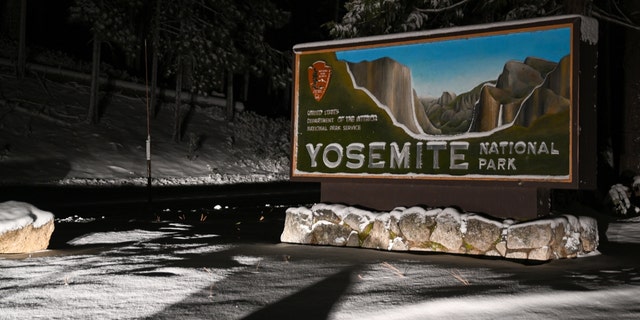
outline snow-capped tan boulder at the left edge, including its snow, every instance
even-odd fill
[[[18,201],[0,203],[0,253],[45,250],[54,229],[51,212]]]

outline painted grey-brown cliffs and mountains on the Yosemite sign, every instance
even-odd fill
[[[530,126],[570,108],[570,56],[558,62],[528,57],[508,61],[497,80],[456,95],[418,97],[411,70],[391,58],[347,63],[354,83],[386,108],[396,124],[417,135],[489,132]]]

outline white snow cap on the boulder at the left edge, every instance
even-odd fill
[[[29,224],[33,224],[34,228],[39,228],[52,219],[51,212],[40,210],[25,202],[0,203],[0,234],[22,229]]]

